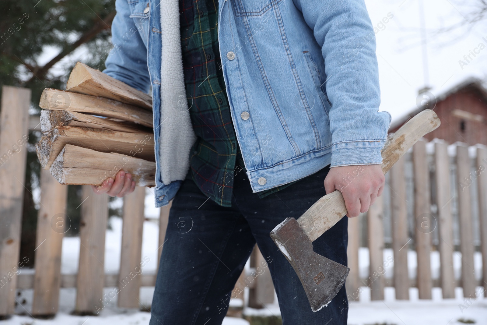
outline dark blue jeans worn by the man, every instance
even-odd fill
[[[269,236],[282,220],[298,218],[325,194],[328,171],[325,167],[264,198],[252,193],[246,175],[238,172],[232,207],[207,200],[186,179],[169,213],[150,325],[222,324],[231,291],[256,242],[268,262],[284,325],[346,325],[345,286],[327,307],[313,313],[298,276]],[[346,265],[347,241],[344,217],[313,246]]]

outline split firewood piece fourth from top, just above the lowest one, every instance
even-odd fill
[[[66,144],[104,153],[122,153],[155,161],[154,139],[150,133],[115,132],[103,129],[56,126],[36,143],[37,157],[43,169],[51,167]]]

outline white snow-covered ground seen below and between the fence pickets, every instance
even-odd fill
[[[148,195],[146,216],[149,218],[158,217],[158,209],[151,208],[152,196]],[[121,230],[122,220],[120,218],[112,217],[110,219],[112,230],[107,230],[106,233],[106,252],[105,252],[105,268],[107,273],[117,273],[120,264],[120,244],[121,244]],[[154,273],[157,261],[157,240],[158,240],[158,225],[153,221],[146,221],[144,223],[142,257],[147,257],[150,262],[147,263],[143,272]],[[61,272],[63,274],[76,273],[78,268],[78,253],[79,253],[79,238],[66,237],[63,240],[62,249],[62,263]],[[384,250],[384,260],[392,255],[391,249]],[[359,251],[359,267],[360,276],[366,278],[368,276],[369,268],[369,253],[368,249],[360,248]],[[416,272],[416,256],[414,251],[409,252],[408,256],[409,274],[411,277],[415,276]],[[461,257],[455,252],[454,268],[455,276],[460,276]],[[386,268],[385,276],[392,276],[391,264]],[[481,274],[481,257],[479,254],[475,256],[475,270],[476,276]],[[22,270],[22,272],[33,272],[33,270]],[[431,254],[431,273],[433,278],[438,277],[439,273],[439,257],[437,252]],[[478,288],[480,289],[480,288]],[[105,288],[108,293],[113,288]],[[29,316],[32,304],[33,290],[22,290],[17,297],[19,302],[24,302],[16,307],[16,314],[6,321],[0,321],[0,325],[101,325],[101,324],[116,324],[116,325],[145,325],[149,324],[150,314],[133,309],[122,309],[116,306],[116,298],[113,299],[100,313],[98,317],[87,316],[72,316],[70,313],[75,307],[75,288],[63,288],[60,292],[60,306],[56,318],[53,320],[35,320]],[[150,306],[152,300],[153,288],[142,287],[140,291],[140,302],[144,306]],[[369,324],[383,324],[388,325],[454,325],[462,324],[458,320],[471,320],[475,324],[487,325],[487,299],[484,295],[479,295],[476,301],[465,302],[463,299],[462,289],[456,289],[456,299],[441,299],[441,289],[433,289],[433,299],[431,301],[419,301],[416,288],[410,289],[410,301],[396,301],[394,299],[394,288],[388,287],[385,291],[384,301],[371,302],[370,290],[367,287],[362,287],[362,292],[359,297],[359,302],[352,302],[350,304],[349,324],[350,325],[369,325]],[[231,301],[231,306],[242,305],[241,301]],[[276,303],[268,305],[263,309],[245,308],[246,315],[262,315],[262,316],[279,316],[280,310]],[[225,318],[224,325],[248,325],[248,322],[237,318]]]

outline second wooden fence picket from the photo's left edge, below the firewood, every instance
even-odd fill
[[[59,184],[49,170],[41,170],[40,188],[32,314],[47,316],[55,315],[59,306],[62,239],[71,220],[66,215],[68,186]]]

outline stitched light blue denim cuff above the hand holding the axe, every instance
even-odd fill
[[[384,140],[343,141],[332,146],[330,167],[382,163]]]

